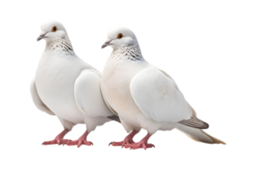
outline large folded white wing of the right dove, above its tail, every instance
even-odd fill
[[[143,114],[156,122],[180,122],[192,116],[189,102],[177,83],[154,67],[132,78],[131,96]]]

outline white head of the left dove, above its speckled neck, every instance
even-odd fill
[[[67,38],[67,30],[62,26],[59,20],[43,20],[37,41],[44,39],[44,41],[48,43],[52,42],[55,38]]]

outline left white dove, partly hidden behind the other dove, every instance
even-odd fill
[[[45,46],[42,46],[44,40]],[[43,20],[36,38],[44,48],[29,85],[32,104],[61,124],[61,133],[41,146],[91,146],[88,134],[97,126],[119,121],[101,92],[102,72],[75,52],[61,21]],[[78,139],[68,139],[76,125],[85,125]]]

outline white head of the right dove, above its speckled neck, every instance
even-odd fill
[[[130,46],[137,42],[135,32],[125,26],[112,26],[107,31],[107,36],[102,48],[109,46],[112,50]]]

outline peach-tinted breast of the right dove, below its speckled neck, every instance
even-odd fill
[[[110,54],[109,58],[111,57],[113,56]],[[139,126],[137,115],[143,116],[143,113],[131,97],[130,82],[132,77],[142,70],[142,67],[137,63],[126,62],[125,59],[109,58],[102,72],[102,95],[114,111],[124,117],[126,122]],[[148,65],[143,64],[143,66]]]

